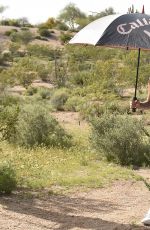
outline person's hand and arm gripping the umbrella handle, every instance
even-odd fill
[[[131,109],[150,109],[150,79],[148,80],[148,95],[147,100],[140,102],[139,100],[132,100],[130,108]]]

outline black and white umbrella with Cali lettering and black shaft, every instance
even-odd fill
[[[141,13],[109,15],[80,30],[69,44],[120,47],[138,50],[134,100],[137,100],[140,51],[150,49],[150,16]],[[135,111],[135,110],[134,110]]]

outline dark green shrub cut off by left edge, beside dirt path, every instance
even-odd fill
[[[16,175],[9,164],[0,164],[0,194],[9,195],[17,187]]]

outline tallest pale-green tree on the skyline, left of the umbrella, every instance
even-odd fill
[[[70,29],[74,30],[78,18],[86,18],[86,15],[80,11],[73,3],[69,3],[60,13],[59,20],[67,23]]]

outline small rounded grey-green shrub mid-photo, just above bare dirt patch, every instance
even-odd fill
[[[64,105],[69,97],[68,90],[65,88],[58,89],[51,98],[52,106],[59,111],[64,110]]]

